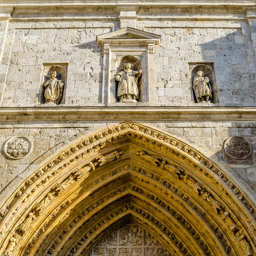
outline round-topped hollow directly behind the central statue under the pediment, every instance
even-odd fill
[[[133,65],[132,70],[134,70],[134,71],[142,70],[142,62],[138,57],[132,56],[132,55],[126,55],[126,56],[117,58],[116,74],[124,70],[125,63],[131,63]],[[145,92],[143,91],[142,81],[143,81],[143,73],[141,74],[140,78],[138,79],[138,90],[139,90],[139,99],[137,100],[138,102],[142,102],[143,95],[145,94]],[[118,84],[119,84],[119,81],[116,81],[115,96],[116,96],[117,102],[119,102],[119,99],[117,97]]]

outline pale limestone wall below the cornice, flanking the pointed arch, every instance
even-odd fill
[[[47,159],[59,150],[81,137],[89,136],[94,131],[107,125],[118,124],[114,121],[99,122],[12,122],[1,123],[0,143],[0,189],[1,199],[6,198],[22,180],[40,167]],[[250,141],[256,148],[255,122],[223,122],[223,121],[169,121],[140,122],[152,128],[183,140],[197,148],[201,153],[218,163],[230,177],[256,199],[256,164],[255,150],[251,159],[253,162],[241,164],[226,164],[222,144],[232,136],[241,136]],[[10,160],[3,152],[3,145],[13,136],[26,136],[33,143],[32,153],[20,160]],[[2,200],[1,200],[2,201]]]

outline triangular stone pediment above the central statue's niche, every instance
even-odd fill
[[[145,32],[140,29],[134,28],[124,28],[118,29],[116,31],[112,31],[106,34],[98,35],[97,42],[99,45],[103,45],[104,42],[109,42],[111,44],[122,44],[122,43],[129,43],[129,42],[136,42],[139,41],[140,44],[142,42],[154,42],[154,44],[160,43],[160,35],[156,35],[153,33]]]

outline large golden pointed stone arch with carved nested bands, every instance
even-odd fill
[[[140,224],[175,256],[256,252],[255,207],[239,187],[191,145],[132,122],[53,156],[0,215],[1,255],[87,256],[124,223]]]

